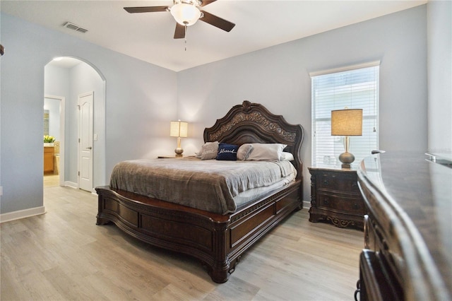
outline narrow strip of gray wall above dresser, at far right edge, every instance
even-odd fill
[[[429,1],[429,151],[452,153],[452,1]]]

